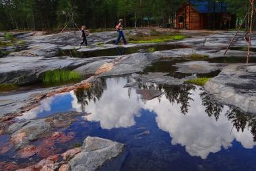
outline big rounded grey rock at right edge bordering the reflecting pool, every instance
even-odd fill
[[[236,64],[205,83],[205,90],[216,100],[256,114],[256,65]]]

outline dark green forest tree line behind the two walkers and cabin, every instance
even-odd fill
[[[188,1],[0,0],[0,30],[59,30],[68,22],[73,28],[75,24],[114,28],[119,18],[123,18],[126,27],[171,26],[174,13]],[[249,9],[247,0],[222,1],[228,3],[228,10],[236,14],[238,22]]]

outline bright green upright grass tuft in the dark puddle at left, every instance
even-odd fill
[[[53,71],[46,71],[42,75],[42,81],[44,83],[62,83],[69,81],[78,81],[82,79],[82,75],[75,71],[69,71],[66,69],[56,69]]]

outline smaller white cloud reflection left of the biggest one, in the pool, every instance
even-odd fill
[[[132,96],[127,96],[127,88],[123,88],[125,79],[119,80],[119,85],[113,79],[107,79],[108,90],[104,91],[100,100],[89,102],[86,106],[86,112],[91,113],[85,118],[88,121],[100,121],[103,129],[113,129],[119,127],[131,127],[135,125],[135,116],[140,116],[139,110],[141,104],[135,91],[132,90]],[[115,79],[116,80],[116,79]],[[73,97],[72,106],[78,111],[81,110],[77,104],[77,99]]]

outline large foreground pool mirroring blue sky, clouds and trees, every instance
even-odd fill
[[[67,128],[72,144],[90,135],[126,145],[101,170],[256,170],[254,116],[212,101],[197,86],[123,88],[128,81],[100,79],[89,90],[47,98],[19,119],[86,112]],[[162,95],[154,98],[156,92]]]

